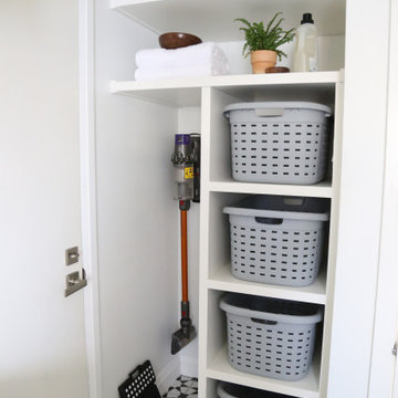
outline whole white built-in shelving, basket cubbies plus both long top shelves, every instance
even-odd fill
[[[251,7],[248,7],[250,4]],[[297,6],[298,4],[298,6]],[[333,14],[344,12],[342,1],[313,1],[318,10],[318,25],[324,34],[344,34],[344,27],[331,23]],[[228,6],[228,7],[227,7]],[[302,4],[301,4],[302,6]],[[259,10],[264,19],[275,10],[284,11],[291,20],[301,17],[300,1],[294,7],[287,1],[133,1],[113,0],[112,7],[129,14],[155,32],[189,31],[205,40],[238,40],[237,27],[231,20],[237,15],[258,19]],[[293,7],[293,9],[289,9]],[[306,3],[306,8],[310,6]],[[212,30],[213,13],[227,8]],[[234,9],[233,9],[234,8]],[[196,10],[196,13],[193,12]],[[205,11],[203,11],[205,10]],[[213,11],[213,12],[212,12]],[[244,11],[248,11],[243,14]],[[250,11],[250,12],[249,12]],[[305,10],[304,10],[305,11]],[[212,15],[201,21],[201,12]],[[220,10],[219,10],[220,12]],[[232,18],[233,14],[233,18]],[[170,18],[168,18],[170,15]],[[172,15],[172,17],[171,17]],[[196,18],[192,18],[195,15]],[[286,18],[287,20],[287,18]],[[341,20],[341,19],[335,19]],[[296,24],[296,23],[294,23]],[[210,27],[210,28],[208,28]],[[226,27],[226,29],[223,29]],[[220,36],[220,31],[222,35]],[[232,31],[234,33],[232,33]],[[226,38],[227,35],[227,38]],[[200,316],[199,316],[199,396],[216,397],[218,380],[261,388],[301,398],[326,396],[328,359],[333,317],[333,295],[337,245],[341,145],[343,114],[344,72],[289,73],[264,75],[230,75],[156,81],[114,81],[111,92],[129,95],[171,107],[200,107],[201,130],[201,205],[200,205]],[[227,105],[250,101],[310,101],[334,109],[333,158],[328,177],[316,185],[269,185],[237,182],[230,170],[229,123],[223,116]],[[230,272],[229,223],[222,209],[248,195],[283,195],[327,198],[331,202],[328,255],[316,281],[305,287],[286,287],[244,282]],[[298,381],[281,381],[253,376],[233,369],[228,362],[224,313],[219,308],[226,292],[253,294],[316,303],[324,306],[323,333],[308,375]]]

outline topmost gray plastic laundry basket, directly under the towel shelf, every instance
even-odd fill
[[[245,182],[310,185],[326,176],[328,106],[256,102],[224,108],[231,125],[232,177]]]

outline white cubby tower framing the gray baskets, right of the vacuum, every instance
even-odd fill
[[[200,231],[200,363],[199,377],[203,397],[211,397],[214,380],[224,380],[245,386],[277,391],[294,397],[321,397],[327,384],[329,355],[329,331],[332,323],[332,298],[336,253],[336,231],[338,222],[339,196],[339,146],[343,101],[343,74],[314,73],[286,76],[262,76],[262,82],[229,86],[203,87],[202,92],[202,199]],[[275,83],[274,78],[280,80]],[[289,81],[289,82],[287,82]],[[316,83],[315,83],[316,81]],[[289,90],[285,90],[289,86]],[[248,98],[252,92],[253,97]],[[255,94],[254,94],[255,93]],[[231,103],[243,101],[265,101],[277,95],[280,100],[298,97],[302,101],[317,101],[334,108],[334,156],[329,177],[313,186],[242,184],[230,177],[229,124],[222,111]],[[277,94],[276,94],[277,93]],[[243,195],[283,195],[328,198],[331,200],[331,222],[327,263],[323,264],[317,280],[305,287],[286,287],[244,282],[231,275],[229,251],[229,223],[222,209]],[[325,306],[323,338],[318,336],[318,347],[310,374],[295,383],[279,381],[252,376],[234,370],[228,363],[226,348],[224,314],[219,308],[224,292],[245,293],[260,296],[316,303]],[[322,341],[321,341],[322,339]]]

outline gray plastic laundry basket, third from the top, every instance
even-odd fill
[[[281,380],[305,377],[323,317],[320,306],[228,293],[220,307],[227,313],[232,367]]]

